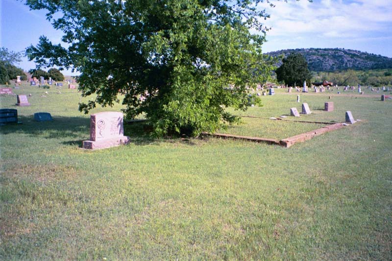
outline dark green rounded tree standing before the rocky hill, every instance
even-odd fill
[[[282,65],[276,69],[276,79],[284,81],[289,86],[301,85],[305,80],[310,83],[312,74],[308,69],[305,57],[300,53],[292,53],[282,60]]]

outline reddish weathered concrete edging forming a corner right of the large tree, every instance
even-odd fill
[[[319,136],[321,134],[343,128],[343,126],[344,126],[343,123],[334,123],[332,125],[319,128],[317,130],[305,132],[299,135],[295,135],[293,137],[282,139],[281,141],[274,140],[274,139],[267,139],[267,138],[239,136],[239,135],[222,134],[222,133],[211,134],[211,133],[203,132],[202,134],[212,136],[212,137],[217,137],[217,138],[223,138],[223,139],[245,140],[250,142],[266,142],[269,144],[281,145],[286,148],[289,148],[297,142],[304,142],[310,140],[315,136]]]

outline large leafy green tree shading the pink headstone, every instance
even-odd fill
[[[79,104],[85,113],[97,103],[113,105],[121,93],[127,116],[145,113],[155,134],[197,135],[232,121],[224,107],[245,109],[247,87],[270,77],[261,2],[26,0],[31,9],[48,10],[68,44],[41,36],[26,53],[38,67],[80,72],[82,95],[97,95]]]

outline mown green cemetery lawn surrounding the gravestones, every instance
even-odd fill
[[[342,122],[347,110],[361,119],[291,148],[154,140],[133,123],[124,124],[131,144],[87,151],[77,90],[13,92],[32,96],[28,107],[0,96],[0,108],[17,109],[23,122],[0,126],[0,260],[392,259],[392,100],[381,93],[301,93],[297,103],[299,93],[275,89],[263,107],[235,112],[263,119],[226,130],[308,131],[313,123],[268,120],[302,102],[313,113],[300,120]],[[322,111],[325,101],[333,112]],[[35,112],[54,121],[35,122]]]

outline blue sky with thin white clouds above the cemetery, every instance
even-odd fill
[[[24,1],[0,1],[0,47],[22,51],[36,45],[41,35],[60,43],[61,31],[52,28],[45,11],[29,10]],[[392,0],[273,1],[265,5],[271,27],[263,51],[310,47],[339,47],[392,57]],[[19,67],[35,68],[24,58]],[[71,75],[70,71],[63,71]]]

